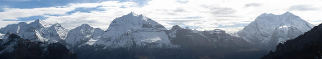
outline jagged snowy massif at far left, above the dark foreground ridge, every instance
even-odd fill
[[[2,34],[17,33],[21,38],[30,39],[31,41],[60,42],[62,44],[65,44],[64,39],[67,36],[67,32],[68,30],[61,27],[58,23],[47,24],[39,19],[30,24],[20,22],[0,29]]]

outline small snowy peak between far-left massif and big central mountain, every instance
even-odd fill
[[[65,39],[67,43],[66,47],[70,48],[84,44],[92,45],[101,37],[102,33],[103,30],[100,28],[93,28],[88,24],[82,24],[68,32],[68,36]]]

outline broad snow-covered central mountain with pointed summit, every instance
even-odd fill
[[[143,15],[131,12],[112,21],[95,44],[107,47],[154,46],[170,45],[166,28]]]

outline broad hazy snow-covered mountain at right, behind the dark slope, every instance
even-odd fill
[[[238,34],[243,39],[258,45],[274,47],[310,30],[312,24],[290,12],[281,15],[264,13],[258,16]],[[273,47],[274,46],[274,47]]]

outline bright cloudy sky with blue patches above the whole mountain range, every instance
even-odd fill
[[[322,23],[322,0],[0,0],[0,28],[42,19],[73,29],[83,23],[106,30],[111,21],[130,12],[143,14],[170,29],[237,32],[263,13],[287,11],[303,20]]]

